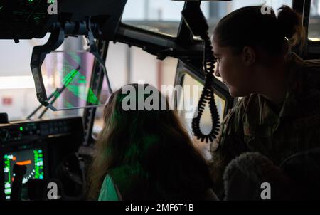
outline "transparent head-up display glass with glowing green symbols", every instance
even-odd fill
[[[106,97],[100,97],[90,87],[90,68],[92,69],[94,62],[92,54],[82,51],[50,53],[46,57],[46,62],[43,63],[46,75],[48,80],[54,80],[49,88],[56,89],[51,91],[55,97],[51,105],[55,109],[82,108],[105,103]]]

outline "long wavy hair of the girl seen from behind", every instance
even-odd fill
[[[124,88],[130,87],[138,93],[123,93]],[[105,106],[104,127],[96,142],[96,154],[89,172],[89,199],[97,199],[108,171],[124,164],[135,167],[138,163],[149,179],[158,184],[157,187],[168,189],[168,193],[183,194],[186,199],[197,199],[196,194],[211,187],[208,163],[193,146],[178,115],[170,110],[168,101],[159,90],[151,87],[155,91],[153,93],[159,95],[159,100],[151,104],[161,110],[138,110],[139,105],[132,104],[132,101],[127,104],[136,110],[124,110],[123,104],[128,102],[128,96],[136,98],[138,103],[150,102],[150,93],[142,92],[142,100],[138,89],[144,91],[150,87],[126,85],[110,96]],[[166,190],[161,192],[164,194],[162,199],[166,199]]]

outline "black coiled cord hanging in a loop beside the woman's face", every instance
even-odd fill
[[[203,54],[203,69],[206,75],[205,85],[201,93],[201,97],[198,103],[198,115],[192,119],[192,130],[193,134],[203,142],[203,140],[210,140],[212,142],[219,132],[219,114],[217,106],[215,105],[214,89],[213,89],[213,73],[215,68],[215,58],[213,57],[213,51],[211,46],[211,41],[208,36],[208,33],[204,36],[201,36],[204,41],[205,51]],[[204,135],[200,129],[200,120],[203,115],[203,111],[206,108],[206,103],[209,104],[212,128],[208,135]]]

